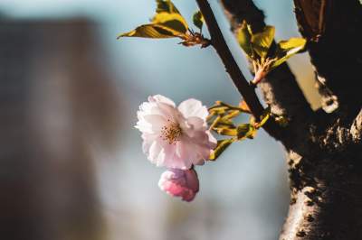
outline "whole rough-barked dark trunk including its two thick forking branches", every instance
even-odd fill
[[[252,0],[222,0],[232,30],[264,26]],[[358,0],[294,0],[323,109],[312,111],[285,64],[264,79],[265,101],[289,126],[273,135],[288,152],[289,215],[280,239],[362,239],[362,5]],[[272,132],[271,132],[272,133]]]

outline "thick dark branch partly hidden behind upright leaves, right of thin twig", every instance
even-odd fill
[[[253,32],[261,32],[265,27],[264,14],[252,3],[252,0],[222,0],[222,4],[234,33],[243,21],[251,24]],[[275,42],[272,47],[275,47]],[[313,114],[286,63],[272,70],[259,86],[265,102],[271,106],[272,113],[288,115],[291,118],[298,117],[301,121],[305,121],[306,117]]]

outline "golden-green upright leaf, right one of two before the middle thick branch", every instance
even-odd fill
[[[275,28],[273,26],[265,26],[262,32],[252,35],[252,49],[262,58],[268,54],[271,42],[274,39]]]

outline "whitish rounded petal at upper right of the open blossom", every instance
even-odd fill
[[[206,106],[194,98],[187,99],[183,101],[179,106],[178,110],[188,118],[190,116],[198,116],[201,119],[205,120],[206,116],[209,115]]]

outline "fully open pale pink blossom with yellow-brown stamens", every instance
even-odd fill
[[[216,146],[208,131],[207,108],[193,98],[176,107],[156,95],[139,106],[136,128],[142,133],[143,152],[157,166],[187,170],[202,165]]]

